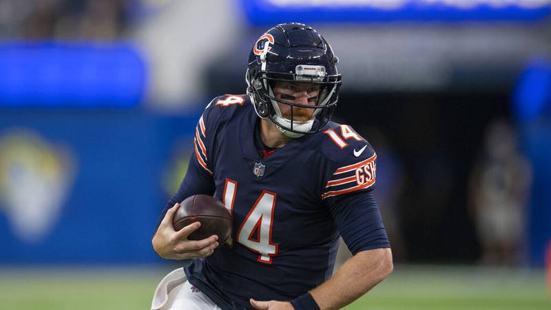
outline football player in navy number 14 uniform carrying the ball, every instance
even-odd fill
[[[351,126],[331,122],[337,62],[313,28],[276,25],[253,46],[247,94],[207,105],[152,240],[163,258],[196,259],[161,281],[152,309],[337,309],[391,273],[372,193],[377,155]],[[227,244],[187,240],[198,223],[174,231],[178,202],[196,194],[231,213]],[[339,235],[354,256],[333,274]]]

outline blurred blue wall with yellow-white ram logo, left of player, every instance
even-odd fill
[[[187,162],[197,119],[0,110],[0,263],[160,261],[150,239],[163,179],[174,159]],[[56,192],[64,198],[48,205]]]

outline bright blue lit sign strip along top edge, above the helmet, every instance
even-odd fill
[[[536,21],[551,12],[551,0],[242,0],[249,21]]]

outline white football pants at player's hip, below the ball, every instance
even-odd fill
[[[222,310],[185,277],[184,269],[173,270],[160,280],[152,310]]]

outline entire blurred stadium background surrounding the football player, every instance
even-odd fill
[[[347,309],[551,309],[551,0],[0,0],[1,308],[149,309],[198,115],[284,21],[379,155],[395,272]]]

